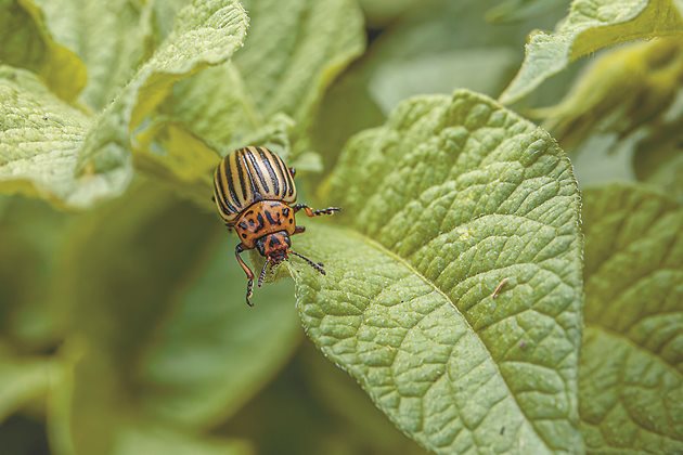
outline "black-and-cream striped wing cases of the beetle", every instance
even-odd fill
[[[296,202],[296,186],[282,158],[266,147],[239,148],[225,156],[214,172],[214,198],[221,218],[234,224],[247,207],[259,200]]]

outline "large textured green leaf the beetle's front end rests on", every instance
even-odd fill
[[[345,218],[296,245],[327,275],[292,265],[323,353],[431,451],[580,451],[579,197],[550,135],[472,92],[416,98],[331,186]]]

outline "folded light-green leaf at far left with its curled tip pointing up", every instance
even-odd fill
[[[93,121],[60,104],[29,74],[3,69],[0,188],[40,194],[76,208],[120,195],[132,177],[130,132],[176,81],[230,58],[242,46],[246,26],[236,0],[195,0]]]

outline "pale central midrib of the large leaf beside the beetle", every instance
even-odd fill
[[[451,299],[448,294],[446,294],[443,290],[441,290],[441,288],[434,282],[431,282],[429,278],[427,278],[424,274],[422,274],[417,269],[415,269],[408,259],[399,256],[398,253],[396,253],[395,251],[390,250],[388,247],[384,246],[383,244],[381,244],[379,242],[369,237],[368,235],[363,234],[360,231],[357,231],[352,227],[348,227],[348,226],[344,226],[344,227],[339,227],[343,229],[345,231],[347,231],[349,233],[349,235],[355,236],[357,238],[359,238],[361,242],[363,242],[365,245],[370,246],[373,249],[376,249],[377,251],[379,251],[383,255],[386,255],[388,257],[390,257],[391,259],[396,260],[396,262],[400,263],[401,265],[403,265],[405,269],[408,269],[412,274],[414,274],[416,277],[418,277],[421,281],[423,281],[424,283],[426,283],[429,287],[431,287],[439,296],[441,296],[446,301],[448,301],[451,307],[452,310],[455,311],[456,313],[460,314],[460,316],[462,317],[462,320],[465,322],[467,328],[473,333],[473,334],[478,334],[477,330],[475,330],[475,328],[472,326],[469,320],[467,318],[467,316],[463,313],[460,312],[460,310],[458,309],[458,307],[455,306],[455,302],[453,301],[453,299]],[[517,265],[517,264],[515,264]],[[294,268],[289,268],[289,270],[293,273],[296,273]],[[484,273],[484,272],[482,272]],[[474,277],[476,275],[471,276]],[[562,281],[562,278],[560,278]],[[562,281],[563,283],[565,283],[564,281]],[[425,315],[426,317],[426,315]],[[510,316],[508,316],[510,317]],[[411,327],[412,329],[412,327]],[[410,330],[410,329],[409,329]],[[500,369],[499,363],[495,361],[495,359],[493,358],[491,351],[489,350],[488,346],[484,342],[484,340],[481,339],[481,337],[476,336],[475,337],[478,341],[478,343],[484,348],[484,350],[486,351],[487,355],[489,356],[489,360],[491,361],[491,363],[493,363],[495,365],[495,370],[498,373],[498,375],[501,377],[503,384],[505,384],[506,390],[507,390],[507,394],[513,398],[515,406],[517,407],[517,411],[519,411],[519,414],[523,415],[526,419],[526,424],[528,426],[530,426],[533,429],[533,434],[543,443],[543,445],[549,450],[549,451],[553,451],[554,448],[547,444],[547,442],[545,441],[545,439],[537,431],[536,426],[533,425],[533,421],[529,419],[529,417],[527,416],[526,412],[523,410],[523,407],[520,406],[519,402],[517,401],[517,396],[516,394],[512,391],[510,385],[507,384],[507,379],[505,378],[505,375],[503,375],[503,373]],[[454,347],[455,344],[453,344]],[[451,350],[451,354],[449,355],[452,356],[452,350]],[[342,365],[342,368],[346,369],[344,367],[344,365]],[[441,376],[443,375],[448,375],[448,368],[443,369],[443,373]],[[437,382],[436,380],[434,381],[435,384]],[[430,386],[431,387],[431,386]],[[504,400],[504,399],[503,399]],[[391,416],[389,415],[389,418],[391,418]],[[401,429],[401,426],[397,425],[399,429]],[[401,429],[402,430],[402,429]],[[410,435],[410,434],[409,434]]]

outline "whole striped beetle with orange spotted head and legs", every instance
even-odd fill
[[[334,214],[338,207],[313,210],[306,204],[296,203],[294,168],[273,152],[261,146],[237,148],[227,155],[214,172],[214,197],[218,213],[228,229],[234,229],[240,237],[235,258],[247,277],[246,302],[253,307],[254,272],[240,256],[256,248],[266,258],[258,277],[258,287],[266,278],[266,270],[280,264],[294,255],[305,260],[321,274],[325,269],[320,262],[291,249],[291,236],[306,231],[296,224],[295,213],[304,210],[307,217]]]

